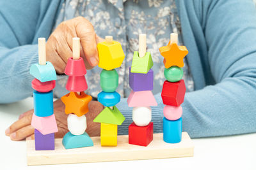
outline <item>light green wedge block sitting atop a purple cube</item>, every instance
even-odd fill
[[[144,57],[139,57],[139,52],[135,51],[132,59],[132,73],[147,74],[153,66],[153,60],[150,52],[147,52]]]

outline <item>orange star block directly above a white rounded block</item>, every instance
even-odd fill
[[[65,113],[74,113],[77,117],[83,116],[89,111],[88,103],[92,101],[92,96],[81,92],[78,95],[76,92],[70,92],[61,97],[61,101],[65,104]]]

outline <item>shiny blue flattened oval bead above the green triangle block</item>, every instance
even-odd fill
[[[115,106],[120,102],[121,96],[118,92],[100,92],[98,94],[99,103],[103,104],[103,106],[111,107]]]

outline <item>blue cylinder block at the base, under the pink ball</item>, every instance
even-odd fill
[[[182,118],[178,120],[163,120],[164,141],[166,143],[179,143],[181,141]]]

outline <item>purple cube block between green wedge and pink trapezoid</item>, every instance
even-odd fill
[[[129,68],[129,84],[134,92],[153,90],[154,71],[150,69],[147,74],[131,73]]]

